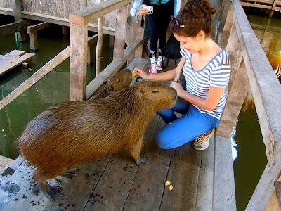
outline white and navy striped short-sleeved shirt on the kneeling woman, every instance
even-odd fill
[[[191,54],[181,49],[181,55],[185,56],[183,75],[186,80],[186,91],[201,98],[207,98],[209,87],[227,87],[230,78],[231,67],[226,50],[219,52],[201,70],[194,70],[191,65]],[[226,104],[226,94],[223,93],[218,106],[212,111],[204,110],[195,106],[201,113],[207,113],[212,117],[220,119]]]

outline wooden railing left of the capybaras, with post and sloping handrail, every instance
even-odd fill
[[[126,49],[124,34],[126,34],[127,18],[129,15],[128,7],[131,0],[107,0],[103,3],[96,4],[84,8],[82,11],[78,11],[74,15],[70,15],[70,46],[67,46],[62,52],[51,59],[46,65],[37,70],[30,78],[20,84],[11,94],[8,94],[0,101],[0,110],[11,103],[15,98],[20,96],[24,91],[32,87],[33,84],[44,77],[48,72],[53,70],[57,65],[62,63],[65,59],[70,57],[70,99],[82,100],[89,98],[94,91],[100,87],[103,82],[107,80],[110,75],[117,72],[127,60],[132,56],[138,58],[142,55],[143,44],[143,29],[136,25],[136,22],[131,21],[129,28],[129,43],[127,43]],[[114,45],[114,60],[107,65],[107,67],[101,72],[92,82],[86,87],[86,63],[88,56],[88,46],[93,43],[93,40],[97,38],[94,35],[88,38],[87,23],[100,18],[103,15],[119,10],[117,16],[118,30],[115,32],[115,45]],[[100,55],[98,55],[100,56]],[[86,92],[87,91],[87,92]],[[87,97],[86,97],[87,93]]]

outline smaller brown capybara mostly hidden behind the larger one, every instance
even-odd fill
[[[105,87],[98,91],[98,93],[92,96],[89,100],[105,98],[112,92],[119,91],[125,87],[129,87],[131,81],[131,70],[126,68],[119,70],[115,75],[112,75],[112,77],[110,77],[107,82],[105,82]]]

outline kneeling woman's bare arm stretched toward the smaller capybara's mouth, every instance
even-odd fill
[[[183,64],[185,63],[185,57],[182,56],[180,62],[178,63],[178,66],[176,66],[175,69],[166,71],[166,72],[161,72],[161,73],[157,73],[154,75],[148,75],[147,72],[140,70],[138,68],[135,68],[135,73],[136,76],[140,76],[143,79],[146,80],[150,80],[150,81],[171,81],[174,79],[174,77],[176,76],[176,74],[178,72],[181,71],[181,69],[183,68]]]

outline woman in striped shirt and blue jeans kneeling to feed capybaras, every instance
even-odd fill
[[[136,75],[153,81],[171,81],[183,70],[186,85],[170,85],[178,94],[176,104],[157,112],[166,123],[155,136],[160,148],[176,148],[194,140],[193,148],[204,150],[221,118],[231,67],[226,50],[211,39],[215,12],[216,7],[208,0],[188,0],[171,21],[174,36],[181,44],[178,66],[155,75],[134,70]],[[182,116],[177,118],[175,111]]]

